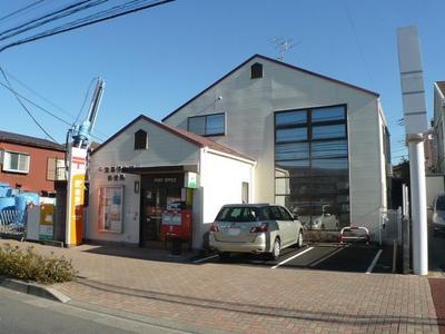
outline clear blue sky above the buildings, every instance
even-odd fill
[[[1,1],[0,13],[31,2]],[[47,0],[40,11],[0,21],[0,29],[70,2]],[[287,52],[286,62],[380,94],[393,161],[398,161],[406,150],[404,128],[397,125],[402,98],[396,28],[418,26],[431,118],[433,82],[445,80],[444,12],[442,0],[177,0],[6,50],[0,65],[52,104],[11,77],[18,91],[71,121],[91,79],[103,77],[95,132],[106,139],[140,114],[160,120],[254,53],[276,58],[271,39],[293,39],[298,45]],[[30,110],[57,140],[65,140],[65,124]],[[44,137],[1,87],[0,115],[2,130]]]

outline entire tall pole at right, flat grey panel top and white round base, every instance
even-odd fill
[[[427,130],[424,77],[417,28],[397,29],[398,66],[409,150],[414,274],[428,274],[424,134]]]

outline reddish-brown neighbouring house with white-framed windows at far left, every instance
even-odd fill
[[[65,147],[40,138],[0,131],[0,181],[41,195],[63,178]],[[59,167],[59,168],[58,168]]]

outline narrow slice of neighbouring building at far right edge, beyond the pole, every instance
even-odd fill
[[[436,173],[445,173],[445,146],[444,146],[444,112],[445,112],[445,81],[434,82],[434,169]]]

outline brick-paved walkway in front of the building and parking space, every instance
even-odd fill
[[[85,278],[57,286],[72,299],[196,332],[438,333],[425,277],[178,264],[82,252],[89,246],[36,248],[72,258]]]

